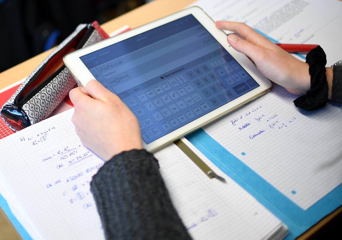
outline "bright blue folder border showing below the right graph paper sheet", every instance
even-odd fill
[[[290,233],[286,240],[297,238],[342,205],[340,184],[310,208],[303,210],[202,129],[185,138],[289,228]],[[293,190],[292,194],[295,193]]]

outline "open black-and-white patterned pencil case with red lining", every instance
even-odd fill
[[[4,122],[13,131],[19,131],[48,118],[76,86],[75,79],[63,64],[63,56],[106,38],[109,36],[97,21],[78,25],[1,107]]]

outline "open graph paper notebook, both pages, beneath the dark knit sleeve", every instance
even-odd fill
[[[35,240],[104,239],[89,185],[104,162],[79,141],[73,111],[0,140],[1,195]],[[156,152],[171,199],[194,239],[286,236],[279,219],[183,141],[227,181],[210,179],[174,144]]]

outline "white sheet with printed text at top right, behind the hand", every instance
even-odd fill
[[[199,0],[214,21],[244,22],[281,43],[319,44],[327,66],[341,60],[339,0]]]

